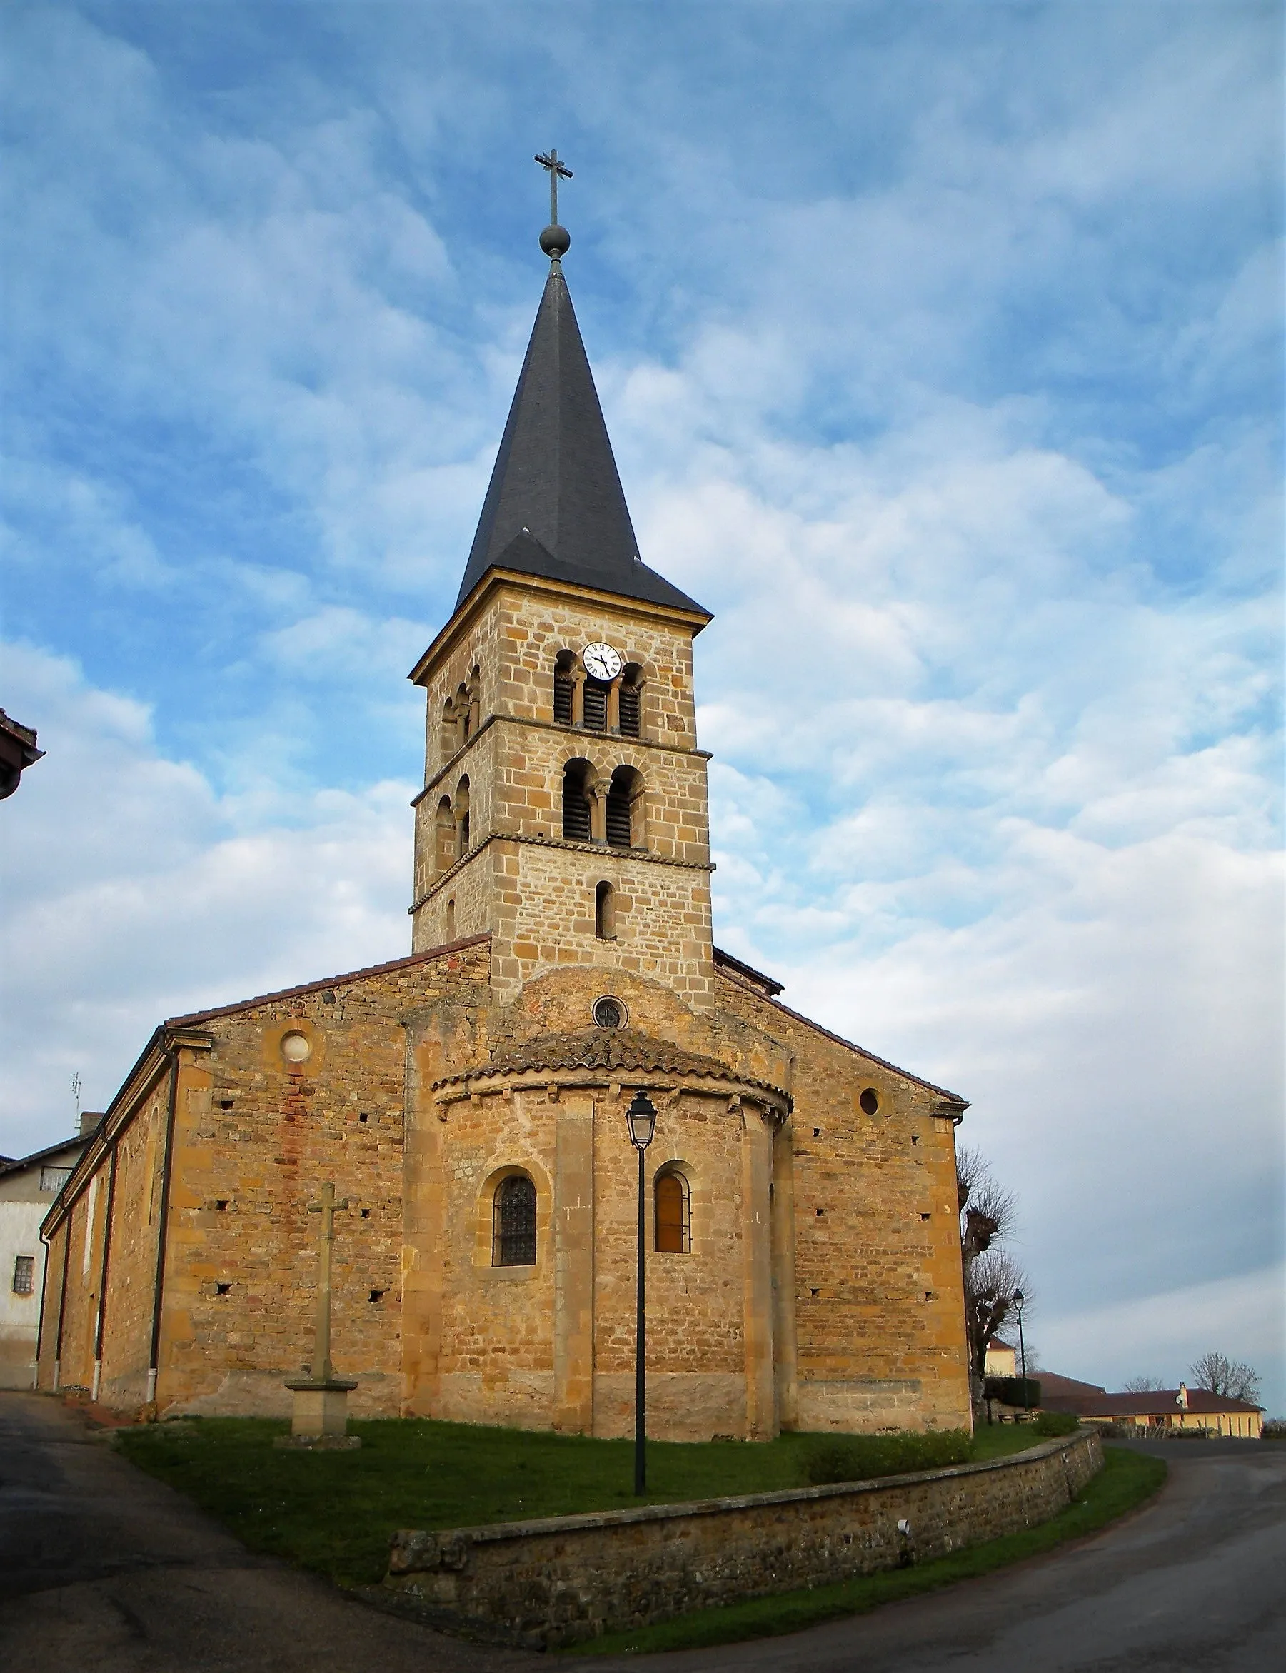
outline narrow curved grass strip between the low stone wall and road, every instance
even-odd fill
[[[622,1651],[699,1650],[707,1645],[737,1643],[743,1638],[773,1638],[843,1614],[863,1614],[881,1603],[915,1598],[918,1593],[936,1591],[958,1579],[990,1574],[1007,1563],[1050,1551],[1064,1539],[1092,1534],[1144,1499],[1151,1499],[1166,1479],[1164,1459],[1129,1452],[1124,1447],[1105,1447],[1104,1459],[1102,1471],[1082,1489],[1080,1499],[1040,1527],[1007,1534],[1003,1539],[988,1539],[987,1544],[910,1569],[866,1574],[838,1586],[818,1586],[814,1591],[779,1593],[774,1598],[758,1598],[722,1609],[702,1609],[699,1614],[681,1614],[674,1621],[662,1621],[634,1633],[610,1633],[587,1645],[577,1645],[570,1653],[595,1656]]]

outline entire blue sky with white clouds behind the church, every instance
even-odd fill
[[[0,1151],[408,947],[542,284],[697,642],[717,937],[973,1101],[1050,1365],[1283,1374],[1273,5],[15,3]]]

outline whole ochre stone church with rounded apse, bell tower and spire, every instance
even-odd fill
[[[557,236],[550,236],[557,234]],[[428,726],[405,959],[156,1029],[50,1208],[38,1385],[286,1414],[333,1181],[360,1415],[620,1435],[968,1425],[965,1101],[711,937],[692,646],[639,557],[560,229]]]

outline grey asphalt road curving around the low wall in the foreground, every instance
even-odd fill
[[[982,1581],[791,1638],[572,1666],[764,1673],[1279,1673],[1286,1445],[1184,1442],[1151,1506]],[[248,1554],[57,1402],[0,1394],[5,1673],[490,1673],[485,1650]]]

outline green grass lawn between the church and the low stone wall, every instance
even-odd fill
[[[398,1527],[617,1511],[637,1504],[634,1442],[418,1420],[353,1422],[356,1452],[273,1445],[288,1424],[207,1417],[117,1430],[130,1462],[217,1517],[253,1551],[286,1558],[339,1586],[375,1584]],[[818,1435],[748,1445],[649,1442],[649,1504],[773,1492],[804,1484]],[[980,1429],[975,1457],[1037,1445],[1025,1425]]]

